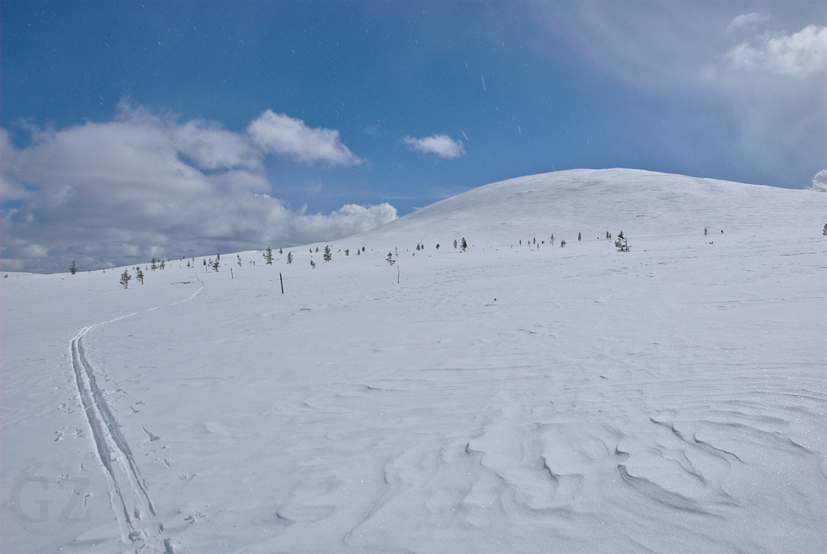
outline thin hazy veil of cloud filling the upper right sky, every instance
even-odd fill
[[[685,107],[675,109],[702,103],[713,125],[725,117],[729,129],[699,125],[699,136],[725,143],[731,132],[739,159],[727,155],[726,163],[758,171],[770,184],[788,183],[791,167],[819,156],[814,146],[824,144],[827,117],[825,26],[802,15],[803,2],[783,6],[772,17],[739,13],[731,2],[555,2],[535,9],[591,69]],[[673,155],[691,159],[697,141],[674,143]]]

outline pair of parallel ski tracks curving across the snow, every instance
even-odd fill
[[[195,278],[200,284],[198,290],[184,300],[170,303],[170,307],[187,302],[201,292],[204,288],[203,281],[198,278],[198,275],[195,275]],[[155,306],[147,309],[146,312],[152,312],[158,308],[160,307]],[[103,389],[98,386],[94,368],[86,358],[84,351],[83,338],[89,332],[109,323],[131,318],[136,314],[137,312],[129,313],[81,329],[72,338],[69,346],[72,369],[84,413],[86,413],[86,419],[92,431],[95,451],[105,470],[110,504],[117,518],[122,542],[133,545],[135,552],[173,554],[172,542],[169,537],[164,536],[164,523],[158,518],[149,486],[141,475],[135,455],[132,454],[127,438],[124,437],[120,423],[112,413]]]

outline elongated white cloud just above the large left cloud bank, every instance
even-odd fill
[[[308,127],[301,119],[267,110],[247,127],[261,150],[313,164],[358,165],[362,160],[339,139],[339,131]]]

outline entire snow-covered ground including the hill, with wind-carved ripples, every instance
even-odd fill
[[[825,207],[574,170],[327,263],[10,274],[2,552],[825,552]]]

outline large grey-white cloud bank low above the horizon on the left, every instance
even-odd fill
[[[254,137],[214,122],[124,108],[111,122],[39,132],[21,147],[0,133],[7,271],[330,241],[397,216],[387,203],[328,215],[289,210],[270,196]]]

